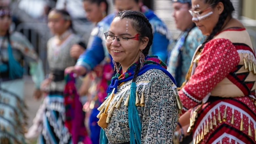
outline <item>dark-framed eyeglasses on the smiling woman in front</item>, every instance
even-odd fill
[[[135,37],[130,37],[130,38],[125,36],[115,36],[110,33],[104,33],[104,35],[107,42],[113,42],[115,40],[115,37],[117,37],[117,42],[118,44],[121,44],[121,45],[128,44],[128,39],[139,40],[139,37],[142,37],[142,36],[138,36],[139,33],[136,34]]]

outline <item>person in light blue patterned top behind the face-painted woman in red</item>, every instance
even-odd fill
[[[191,0],[172,0],[175,25],[181,31],[175,45],[170,44],[167,60],[167,71],[170,72],[177,82],[177,87],[185,81],[191,59],[196,48],[203,43],[205,36],[196,27],[189,13]]]

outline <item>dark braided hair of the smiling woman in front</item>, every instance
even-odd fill
[[[146,48],[142,50],[142,53],[144,54],[144,56],[148,55],[150,46],[152,45],[152,42],[153,42],[153,30],[147,17],[142,12],[136,11],[136,10],[125,10],[125,11],[118,12],[115,18],[116,17],[120,17],[120,19],[123,19],[123,18],[131,19],[132,20],[131,24],[133,28],[135,28],[135,30],[138,31],[139,35],[146,36],[149,38]],[[142,37],[139,37],[139,39],[142,40]],[[139,68],[140,68],[140,62],[136,66],[133,80],[132,80],[133,82],[135,82],[137,79]]]

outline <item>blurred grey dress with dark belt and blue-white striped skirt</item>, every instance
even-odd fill
[[[72,143],[71,134],[64,126],[64,70],[69,66],[75,65],[75,59],[70,56],[70,48],[78,43],[79,40],[80,38],[77,35],[70,34],[59,46],[56,45],[54,37],[50,38],[47,43],[47,57],[50,75],[52,75],[53,80],[49,84],[49,93],[45,97],[46,110],[43,115],[43,130],[42,134],[39,135],[38,143]],[[77,86],[79,86],[78,80],[79,79],[77,79]]]

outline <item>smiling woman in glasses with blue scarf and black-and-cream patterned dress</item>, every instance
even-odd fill
[[[139,11],[119,12],[105,38],[117,74],[98,108],[101,143],[172,143],[181,105],[166,65],[147,55],[153,41],[148,19]]]

